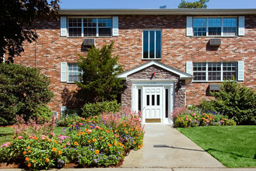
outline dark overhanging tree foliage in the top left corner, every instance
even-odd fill
[[[37,32],[32,29],[36,19],[57,19],[59,0],[2,0],[0,5],[0,63],[7,53],[9,62],[19,56],[24,41],[37,40]]]

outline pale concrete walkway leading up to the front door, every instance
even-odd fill
[[[146,124],[144,146],[124,158],[121,168],[225,168],[170,124]]]

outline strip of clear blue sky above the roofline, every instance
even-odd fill
[[[181,0],[60,0],[61,9],[177,9]],[[195,2],[195,0],[186,0]],[[256,9],[256,0],[210,0],[208,9]]]

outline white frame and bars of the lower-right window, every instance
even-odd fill
[[[194,62],[194,63],[204,63],[205,67],[206,67],[206,70],[203,71],[203,72],[206,72],[206,74],[205,74],[205,80],[194,80],[193,79],[192,82],[223,82],[223,81],[225,81],[225,80],[223,80],[223,72],[224,72],[223,71],[223,64],[226,64],[226,63],[236,63],[237,66],[236,66],[236,78],[235,79],[237,80],[237,76],[238,76],[238,64],[237,64],[237,62]],[[192,64],[192,68],[193,68],[192,73],[193,73],[193,75],[194,75],[194,63]],[[221,67],[221,69],[220,69],[220,80],[210,80],[209,81],[209,78],[208,78],[208,76],[209,76],[209,71],[208,71],[209,63],[220,63],[220,67]]]

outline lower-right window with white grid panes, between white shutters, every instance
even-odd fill
[[[194,62],[193,81],[196,82],[222,82],[226,79],[237,79],[236,62]]]

